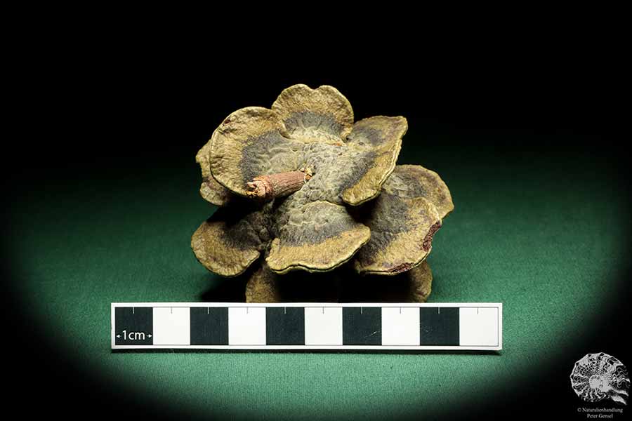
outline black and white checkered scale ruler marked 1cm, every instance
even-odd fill
[[[502,349],[501,303],[112,303],[112,349]]]

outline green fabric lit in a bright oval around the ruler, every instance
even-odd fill
[[[12,219],[15,292],[37,309],[34,328],[53,331],[86,375],[147,406],[377,419],[492,400],[550,366],[616,297],[627,198],[588,153],[542,154],[529,146],[534,133],[492,134],[520,142],[515,153],[467,136],[411,128],[400,163],[440,173],[456,206],[428,260],[429,302],[503,302],[498,354],[112,353],[111,302],[195,302],[231,281],[206,272],[190,250],[213,212],[197,192],[195,151],[184,162],[88,171],[25,192]]]

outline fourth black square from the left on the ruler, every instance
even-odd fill
[[[344,307],[343,345],[382,345],[382,309]]]

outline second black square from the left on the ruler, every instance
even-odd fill
[[[228,307],[192,307],[191,345],[228,345]]]

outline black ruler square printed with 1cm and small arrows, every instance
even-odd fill
[[[117,307],[114,314],[116,345],[153,345],[154,314],[151,307]]]

